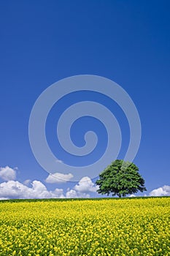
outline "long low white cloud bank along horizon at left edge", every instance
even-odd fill
[[[29,188],[19,181],[7,181],[0,184],[0,197],[8,198],[63,198],[63,189],[48,191],[41,181],[33,181]]]

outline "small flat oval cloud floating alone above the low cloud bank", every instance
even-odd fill
[[[72,173],[64,174],[64,173],[50,173],[49,176],[45,179],[45,182],[47,183],[66,183],[66,181],[69,181],[71,178],[73,178]]]

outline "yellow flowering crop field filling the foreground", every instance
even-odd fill
[[[0,202],[0,255],[170,255],[170,197]]]

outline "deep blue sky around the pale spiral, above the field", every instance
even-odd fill
[[[0,2],[1,183],[9,182],[10,178],[1,174],[7,171],[15,184],[30,180],[27,186],[31,187],[31,182],[40,181],[47,191],[58,188],[63,189],[63,194],[66,189],[74,190],[73,194],[86,192],[75,189],[77,183],[45,181],[48,173],[36,162],[29,144],[28,121],[34,102],[48,86],[69,76],[90,74],[114,80],[136,105],[142,140],[134,163],[144,177],[147,195],[165,185],[169,188],[169,5],[169,1]],[[71,96],[63,99],[61,105],[86,97],[107,102],[105,105],[112,108],[123,133],[123,158],[129,129],[120,108],[96,94],[80,92]],[[107,135],[102,124],[93,118],[77,121],[71,131],[74,142],[82,146],[83,131],[96,129],[99,144],[92,158],[71,159],[58,150],[58,109],[61,106],[50,111],[46,127],[48,143],[54,153],[58,152],[58,158],[84,165],[85,161],[96,159],[97,154],[100,156]],[[11,169],[4,169],[6,166]],[[93,189],[89,189],[89,195],[97,196]],[[0,197],[10,195],[3,196],[2,192]]]

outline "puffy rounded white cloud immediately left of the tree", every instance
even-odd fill
[[[98,186],[95,186],[89,177],[83,177],[79,183],[75,185],[74,189],[77,192],[96,192]]]

